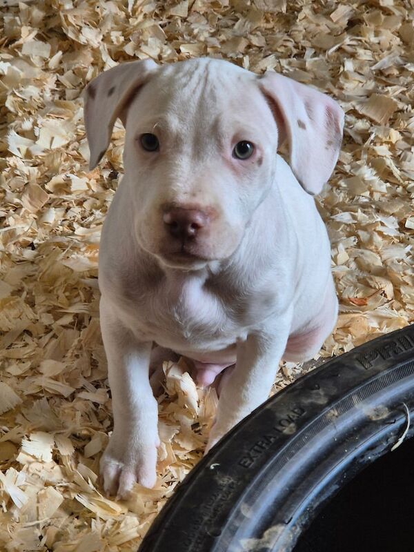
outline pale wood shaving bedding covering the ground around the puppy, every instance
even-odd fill
[[[122,174],[118,122],[88,171],[81,90],[122,61],[224,57],[333,95],[342,153],[318,208],[340,314],[320,355],[413,322],[414,10],[286,0],[2,0],[0,34],[0,549],[132,551],[198,462],[217,404],[166,364],[159,477],[103,496],[112,428],[98,319],[103,219]],[[302,373],[284,363],[274,391]]]

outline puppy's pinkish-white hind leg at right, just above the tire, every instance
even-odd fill
[[[337,315],[338,299],[333,279],[331,279],[326,289],[322,310],[301,331],[289,336],[282,358],[288,362],[312,359],[335,328]]]

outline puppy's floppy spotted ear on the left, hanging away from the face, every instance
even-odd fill
[[[152,59],[121,63],[101,73],[83,90],[90,170],[97,166],[106,152],[117,117],[157,67]]]

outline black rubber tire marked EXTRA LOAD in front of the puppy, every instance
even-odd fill
[[[413,359],[414,325],[299,377],[197,464],[139,552],[292,551],[323,504],[404,432]]]

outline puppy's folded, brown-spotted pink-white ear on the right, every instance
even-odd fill
[[[274,71],[258,82],[288,141],[290,168],[306,192],[319,193],[339,156],[344,112],[329,96]]]

